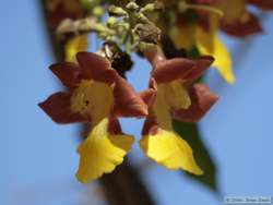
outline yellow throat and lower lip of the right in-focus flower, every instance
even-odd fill
[[[147,118],[145,122],[140,145],[147,157],[168,169],[183,169],[202,174],[201,168],[193,158],[191,147],[174,131],[171,125],[170,109],[173,107],[188,109],[190,104],[190,97],[181,82],[159,85],[151,109],[153,117]]]

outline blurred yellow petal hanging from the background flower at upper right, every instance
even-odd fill
[[[218,70],[224,80],[233,84],[235,76],[232,69],[232,57],[216,33],[205,33],[202,28],[199,28],[197,46],[202,55],[210,55],[215,58],[213,65]]]

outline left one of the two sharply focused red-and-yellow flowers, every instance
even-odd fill
[[[147,106],[105,58],[79,52],[76,59],[79,65],[50,67],[69,92],[56,93],[39,106],[57,123],[91,123],[92,131],[79,147],[76,173],[81,182],[88,182],[121,164],[134,141],[121,132],[117,118],[145,117]]]

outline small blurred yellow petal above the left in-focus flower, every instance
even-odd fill
[[[88,48],[88,37],[86,34],[75,36],[66,44],[66,61],[76,62],[75,55],[80,51],[86,51]]]

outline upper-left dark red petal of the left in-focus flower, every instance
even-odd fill
[[[75,88],[81,81],[81,69],[72,62],[51,64],[49,69],[68,88]]]

